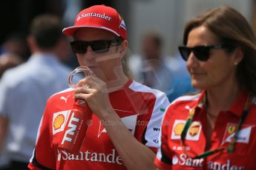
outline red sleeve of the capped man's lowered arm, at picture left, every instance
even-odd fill
[[[51,145],[50,115],[47,108],[39,125],[36,147],[28,165],[29,169],[56,169],[56,157]]]

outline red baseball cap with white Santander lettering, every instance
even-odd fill
[[[77,16],[72,27],[62,30],[65,35],[73,36],[79,28],[93,27],[108,30],[117,36],[127,39],[125,21],[112,7],[105,5],[94,5],[82,10]]]

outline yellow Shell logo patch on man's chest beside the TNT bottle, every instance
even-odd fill
[[[58,132],[64,131],[65,124],[68,121],[69,114],[70,110],[53,113],[53,135],[55,135]]]

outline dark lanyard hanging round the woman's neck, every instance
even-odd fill
[[[194,114],[195,114],[195,112],[196,112],[196,108],[197,108],[198,106],[203,106],[203,103],[205,103],[205,101],[206,101],[206,98],[203,98],[203,100],[201,100],[201,101],[198,103],[197,106],[195,106],[193,109],[191,109],[191,112],[189,112],[188,118],[187,118],[186,123],[185,123],[185,126],[184,126],[184,128],[183,128],[183,132],[181,132],[180,140],[181,140],[181,144],[182,144],[182,146],[183,146],[183,152],[185,152],[186,154],[187,154],[186,149],[185,149],[185,137],[186,137],[186,134],[187,134],[187,132],[188,132],[189,127],[191,126],[192,120],[193,120],[193,118],[194,118]],[[246,100],[246,105],[244,106],[244,109],[243,109],[243,114],[242,114],[242,116],[241,116],[239,122],[237,123],[237,129],[236,129],[236,131],[234,132],[234,136],[232,137],[232,140],[231,140],[231,142],[229,143],[229,147],[228,147],[228,148],[226,148],[226,147],[219,147],[219,148],[214,149],[214,150],[209,150],[209,151],[204,152],[203,154],[198,154],[197,156],[192,157],[192,159],[200,159],[200,158],[209,157],[210,155],[215,154],[215,153],[217,153],[217,152],[221,152],[221,151],[223,151],[223,150],[225,150],[225,149],[226,149],[226,151],[229,152],[229,153],[234,152],[234,144],[235,144],[235,142],[236,142],[236,140],[237,140],[238,132],[239,132],[239,130],[240,130],[240,128],[241,128],[241,125],[242,125],[242,123],[243,123],[243,120],[246,119],[246,116],[247,116],[248,113],[249,113],[249,108],[250,108],[251,104],[252,104],[252,97],[251,97],[251,95],[249,95],[249,96],[247,97],[247,100]],[[188,154],[187,154],[187,155],[188,155]]]

